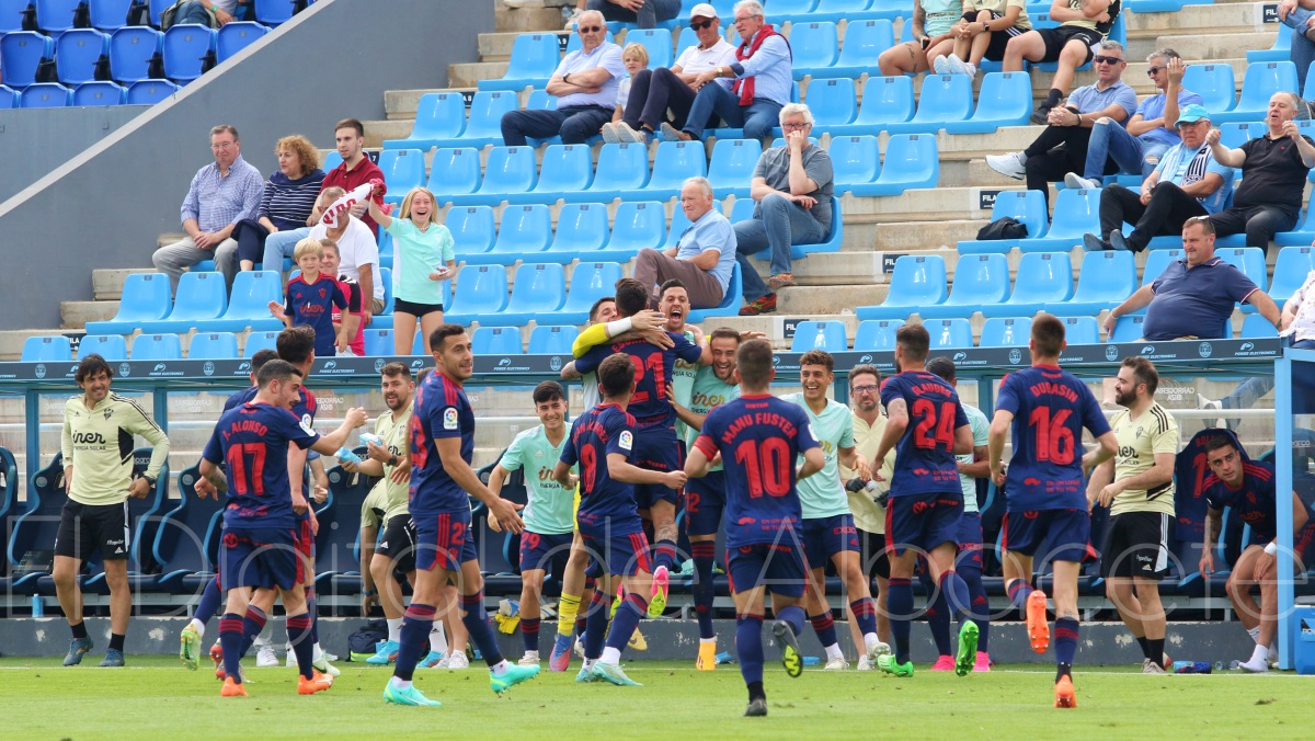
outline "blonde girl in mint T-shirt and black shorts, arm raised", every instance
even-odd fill
[[[383,183],[373,183],[383,195]],[[452,233],[434,221],[438,199],[429,188],[412,188],[397,217],[383,212],[373,199],[370,216],[393,237],[393,351],[410,355],[419,321],[422,346],[430,354],[429,336],[443,324],[443,280],[452,278],[456,254]]]

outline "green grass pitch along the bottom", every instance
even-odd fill
[[[773,649],[768,648],[768,653]],[[1005,666],[896,679],[880,673],[765,671],[769,715],[740,717],[736,665],[700,673],[690,662],[627,666],[643,687],[576,684],[544,671],[498,698],[487,673],[418,670],[417,686],[441,708],[384,704],[385,669],[341,663],[333,690],[296,695],[296,670],[251,669],[250,698],[221,699],[204,661],[187,671],[171,657],[129,657],[128,667],[63,667],[58,658],[0,659],[4,738],[1294,738],[1308,737],[1315,680],[1291,673],[1251,677],[1141,675],[1078,667],[1078,708],[1055,709],[1053,673]],[[1140,669],[1140,667],[1139,667]],[[1304,728],[1304,730],[1303,730]]]

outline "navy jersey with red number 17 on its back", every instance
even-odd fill
[[[226,525],[292,528],[292,488],[288,482],[288,444],[306,449],[320,436],[299,422],[288,409],[249,401],[230,409],[205,444],[201,458],[225,465],[229,503]]]

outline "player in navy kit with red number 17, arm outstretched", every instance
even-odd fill
[[[289,444],[330,454],[352,429],[366,422],[360,408],[347,411],[342,425],[321,437],[291,413],[301,396],[301,371],[285,361],[264,363],[256,376],[259,391],[251,401],[220,417],[201,454],[196,482],[199,496],[226,491],[224,509],[222,583],[227,609],[220,620],[226,677],[221,696],[246,696],[238,662],[250,641],[264,628],[274,608],[275,590],[288,613],[288,633],[297,657],[297,694],[312,695],[333,686],[333,677],[312,666],[313,637],[308,600],[302,591],[305,561],[295,544],[295,508],[306,508],[293,496],[288,479]],[[220,465],[225,473],[220,474]],[[247,601],[242,587],[255,592]]]

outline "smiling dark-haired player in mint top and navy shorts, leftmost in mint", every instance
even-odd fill
[[[560,383],[544,380],[534,387],[533,399],[540,424],[517,434],[489,475],[489,491],[498,496],[512,471],[525,471],[525,490],[530,496],[521,512],[525,520],[525,532],[521,533],[521,638],[525,640],[525,655],[521,657],[521,666],[539,663],[543,578],[554,563],[562,573],[575,532],[575,482],[563,486],[552,478],[571,434],[567,392]],[[493,532],[502,529],[492,515],[489,528]]]

